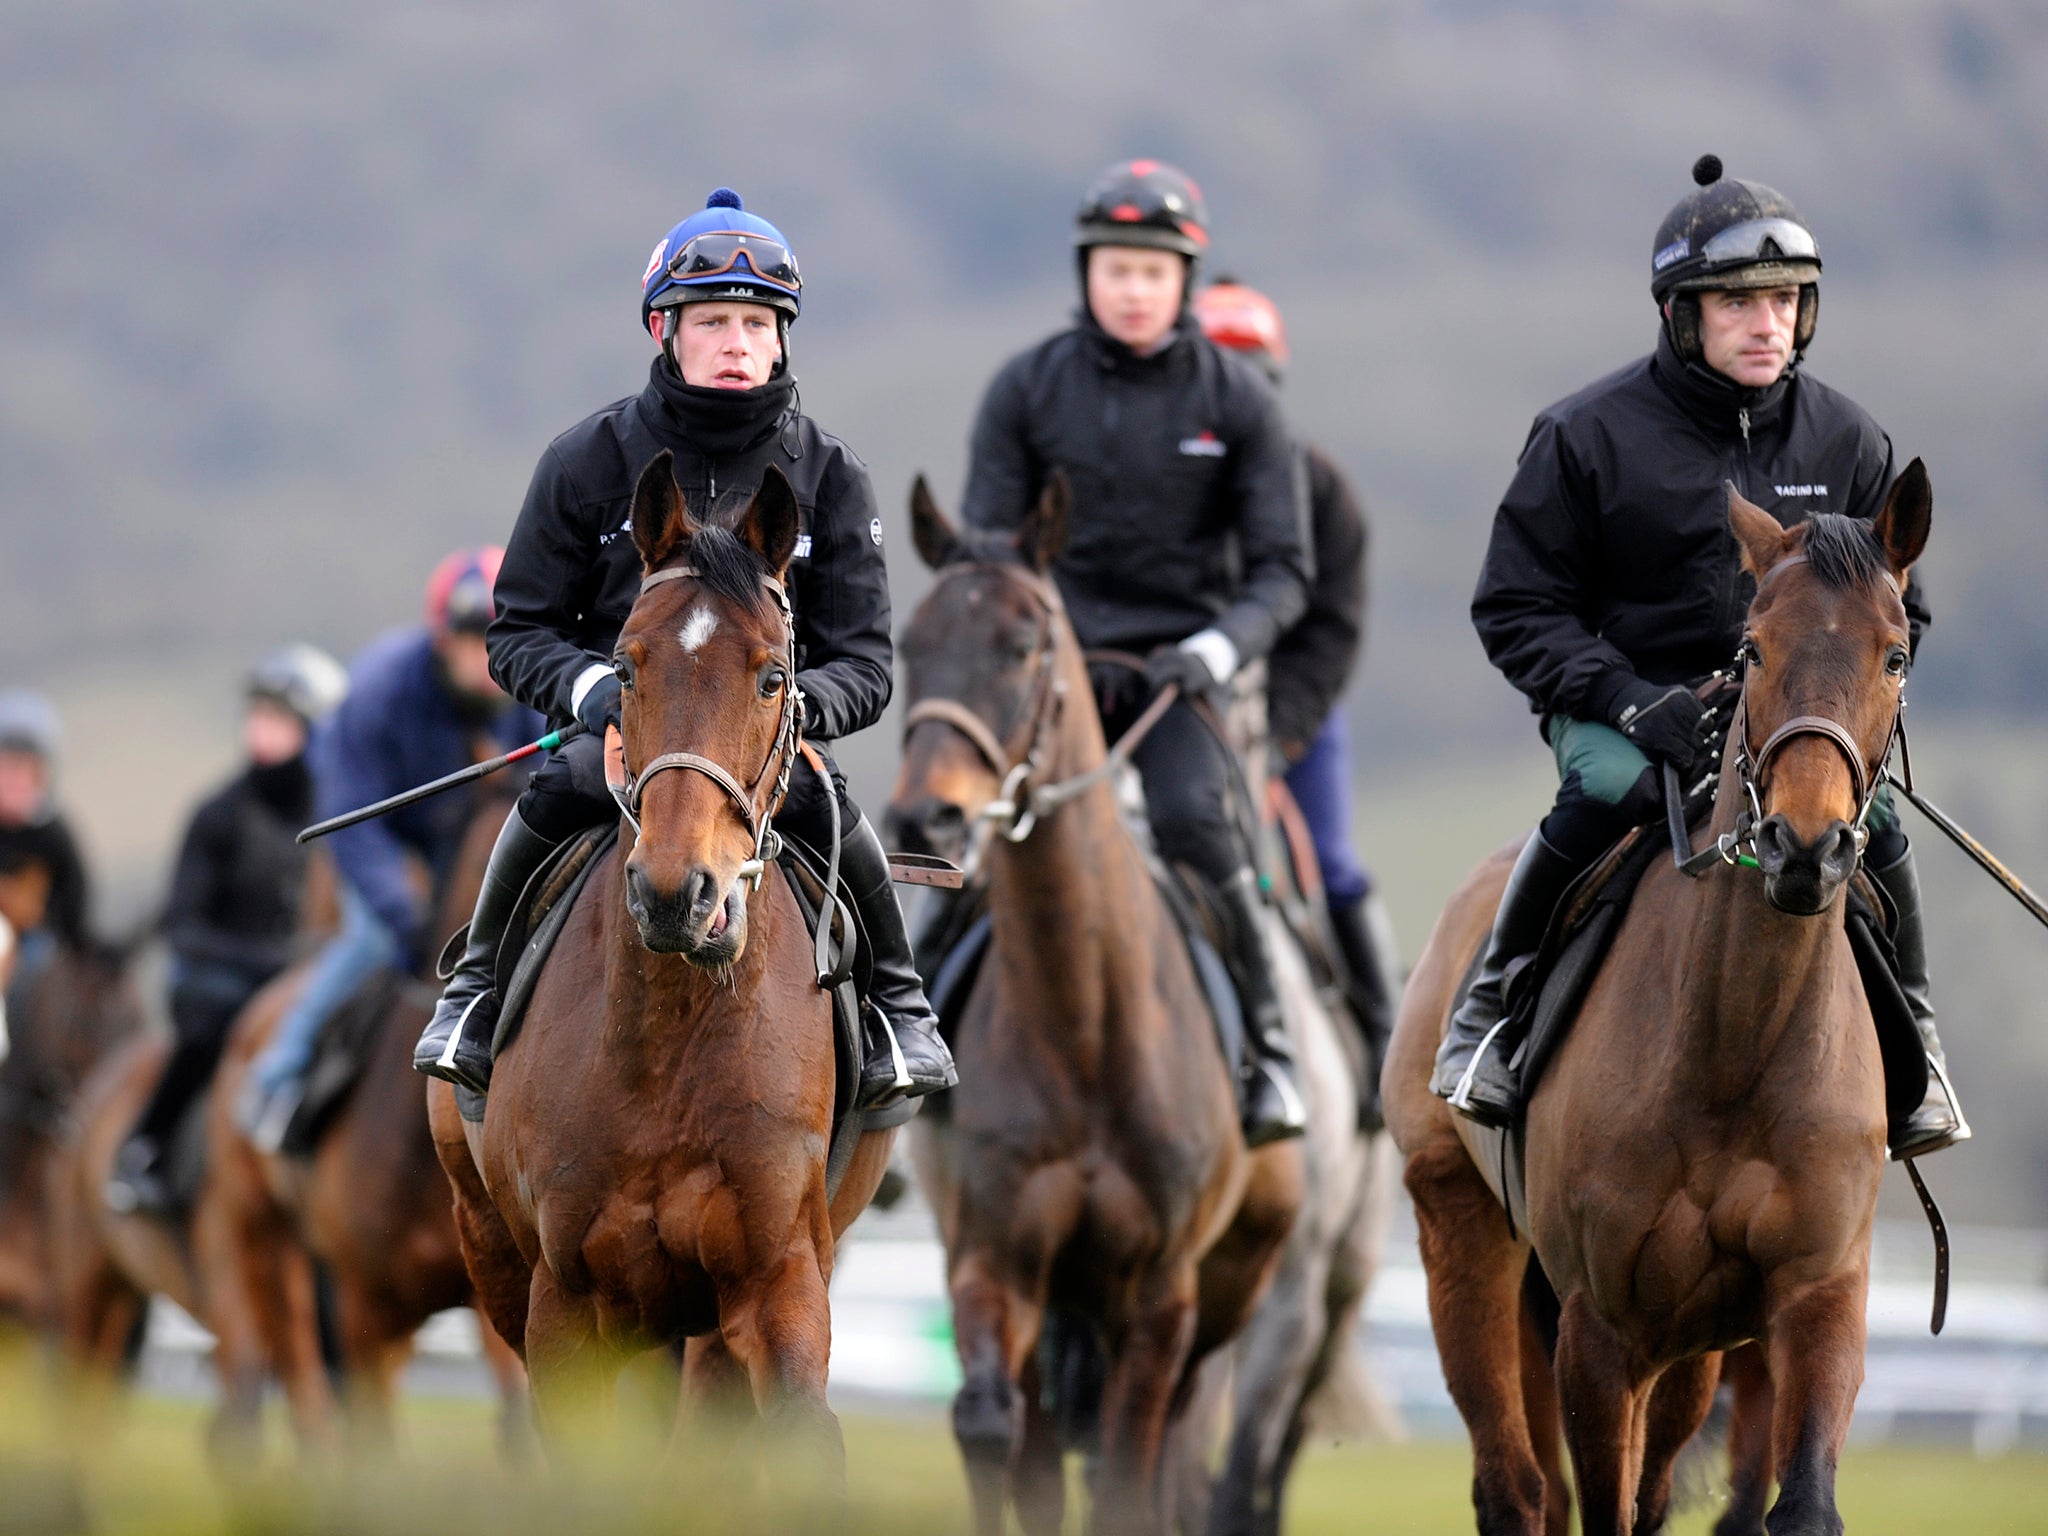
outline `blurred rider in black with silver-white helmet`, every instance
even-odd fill
[[[106,1184],[113,1210],[168,1214],[164,1153],[184,1110],[213,1079],[227,1028],[295,954],[313,819],[311,731],[342,702],[348,674],[311,645],[287,645],[248,676],[246,764],[193,813],[170,877],[170,1026],[164,1075]]]

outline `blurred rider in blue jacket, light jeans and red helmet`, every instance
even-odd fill
[[[313,813],[352,811],[541,733],[492,682],[483,631],[504,551],[459,549],[434,567],[426,623],[373,641],[348,670],[348,698],[313,737]],[[305,1094],[319,1032],[377,971],[432,958],[434,891],[449,872],[475,799],[440,795],[330,840],[342,928],[254,1063],[236,1116],[260,1151],[276,1151]],[[424,864],[428,883],[418,877]]]

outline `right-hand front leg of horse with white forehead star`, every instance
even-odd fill
[[[817,1249],[799,1243],[772,1274],[721,1296],[719,1335],[745,1370],[770,1438],[799,1452],[795,1464],[827,1497],[844,1499],[846,1440],[825,1407],[831,1300]]]

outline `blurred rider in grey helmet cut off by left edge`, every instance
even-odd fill
[[[57,944],[80,948],[88,940],[86,862],[53,799],[61,743],[57,711],[43,694],[0,692],[0,879],[33,874],[43,893],[39,920],[18,934],[16,989]]]

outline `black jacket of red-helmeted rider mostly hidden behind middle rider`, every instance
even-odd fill
[[[1366,631],[1366,512],[1343,471],[1321,449],[1303,449],[1315,580],[1309,612],[1280,637],[1266,664],[1266,719],[1288,762],[1300,758],[1335,709]]]

